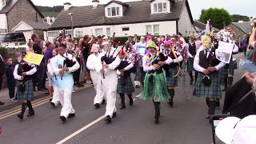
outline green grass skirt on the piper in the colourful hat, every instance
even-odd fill
[[[150,75],[153,76],[153,82],[150,82]],[[144,100],[158,98],[159,101],[164,101],[170,98],[170,94],[168,93],[166,86],[165,75],[163,73],[146,73],[141,98]]]

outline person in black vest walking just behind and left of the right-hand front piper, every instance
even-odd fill
[[[194,82],[197,82],[197,78],[198,78],[198,72],[196,70],[194,70],[194,67],[193,67],[193,63],[194,63],[194,56],[195,54],[197,54],[197,47],[195,45],[195,37],[194,36],[191,36],[190,37],[190,42],[188,43],[188,47],[189,47],[189,50],[187,52],[187,55],[188,55],[188,59],[187,59],[187,62],[186,62],[186,65],[187,65],[187,72],[190,74],[190,85],[193,84],[193,81]],[[194,79],[193,79],[193,74],[192,72],[194,71]]]

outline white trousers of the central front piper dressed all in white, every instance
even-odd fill
[[[112,118],[113,113],[117,111],[117,108],[115,107],[115,102],[117,98],[118,76],[115,70],[113,70],[113,72],[113,74],[108,74],[105,76],[105,78],[102,78],[103,90],[106,93],[105,116],[109,115],[110,118]]]

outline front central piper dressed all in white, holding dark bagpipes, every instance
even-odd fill
[[[106,45],[107,46],[107,45]],[[105,121],[110,123],[111,119],[116,116],[116,96],[117,96],[117,86],[118,86],[118,76],[117,70],[114,70],[119,66],[121,62],[121,57],[118,54],[118,50],[114,48],[110,49],[109,47],[105,47],[102,45],[102,48],[106,51],[106,54],[101,54],[97,61],[96,71],[101,74],[102,78],[102,86],[103,92],[106,94],[106,119]],[[106,56],[107,58],[115,58],[114,62],[110,64],[106,64],[106,62],[102,62],[102,56]]]

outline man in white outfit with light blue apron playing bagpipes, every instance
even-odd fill
[[[70,63],[72,62],[70,61],[75,62],[75,64],[71,66],[72,64]],[[66,118],[74,117],[75,111],[71,104],[71,94],[74,86],[74,79],[73,74],[71,73],[78,70],[79,63],[77,62],[76,58],[73,58],[71,54],[66,52],[66,45],[61,44],[58,46],[58,55],[51,59],[50,64],[54,74],[56,75],[54,84],[55,87],[57,87],[59,101],[62,104],[60,119],[62,119],[62,121],[66,121]]]

